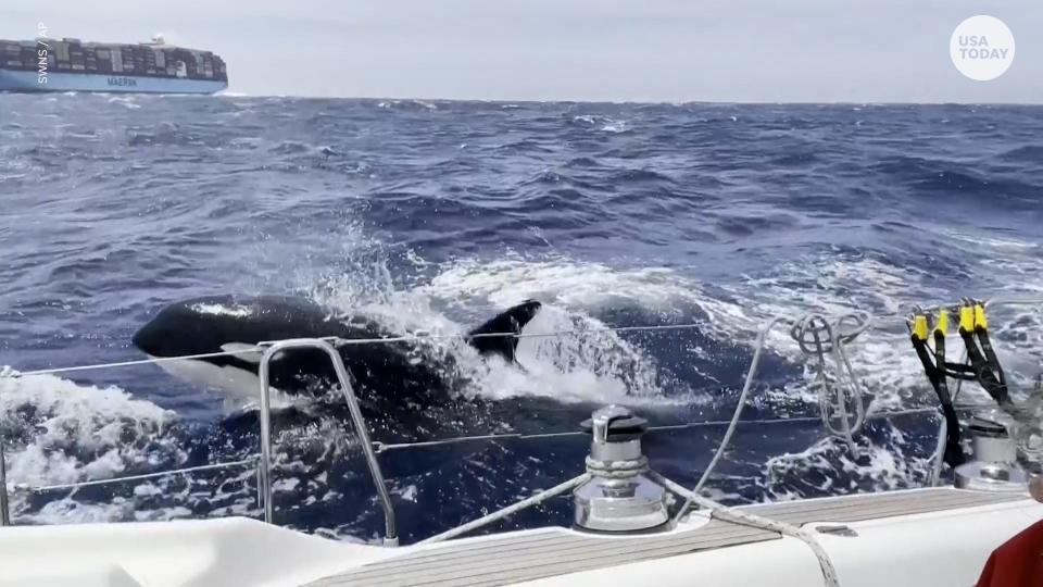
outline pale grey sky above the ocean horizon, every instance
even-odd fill
[[[1043,103],[1043,0],[0,0],[0,38],[168,41],[248,95],[497,100]],[[991,14],[992,82],[948,57]]]

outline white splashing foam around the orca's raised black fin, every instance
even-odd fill
[[[489,263],[453,262],[427,284],[410,290],[394,289],[386,266],[377,264],[362,275],[328,282],[315,291],[318,301],[345,314],[377,317],[392,332],[424,330],[432,335],[466,334],[495,312],[535,298],[544,305],[525,329],[526,335],[532,335],[603,329],[606,325],[591,313],[620,302],[670,312],[679,297],[694,299],[695,289],[666,268],[628,272],[567,260],[528,262],[511,258]],[[461,310],[474,315],[474,322],[454,321],[436,308]],[[485,310],[476,314],[475,308]],[[482,360],[460,339],[432,341],[427,351],[452,354],[474,384],[465,392],[485,397],[536,395],[564,401],[633,401],[662,396],[654,359],[615,333],[524,338],[518,345],[524,371],[495,359]]]

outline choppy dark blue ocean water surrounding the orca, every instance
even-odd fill
[[[1022,107],[0,95],[0,365],[140,359],[130,335],[163,304],[225,292],[305,296],[398,332],[463,333],[527,298],[544,303],[532,332],[698,325],[527,339],[524,372],[472,357],[449,392],[493,415],[425,430],[555,433],[612,401],[653,424],[727,419],[763,324],[860,310],[874,327],[850,353],[870,411],[931,407],[900,317],[1043,297],[1041,137],[1043,109]],[[1029,386],[1043,313],[992,325]],[[816,416],[796,346],[779,329],[767,347],[746,417]],[[13,484],[257,450],[249,407],[152,365],[3,379],[0,408]],[[738,503],[920,486],[935,426],[872,421],[854,454],[815,422],[742,426],[708,487]],[[653,466],[693,484],[721,433],[650,435]],[[352,436],[324,416],[276,430],[279,523],[379,535]],[[403,539],[578,474],[586,450],[388,453]],[[12,499],[18,524],[260,515],[249,469]],[[497,527],[569,520],[560,498]]]

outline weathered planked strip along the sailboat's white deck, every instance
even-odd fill
[[[829,526],[1018,500],[1025,500],[1025,496],[946,488],[815,499],[754,505],[743,510],[794,525],[822,522],[826,523],[825,526]],[[1043,516],[1043,507],[1039,509],[1039,516]],[[603,537],[548,528],[485,538],[480,542],[466,540],[436,549],[418,550],[366,564],[312,585],[504,585],[781,538],[774,532],[718,520],[711,520],[698,529],[630,537]],[[985,554],[988,555],[988,552]],[[810,551],[808,560],[812,560]],[[984,560],[982,557],[981,563],[984,563]],[[741,563],[737,561],[737,564]]]

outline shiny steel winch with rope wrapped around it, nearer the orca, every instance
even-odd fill
[[[587,458],[591,478],[574,491],[576,527],[594,532],[667,529],[668,492],[644,475],[649,461],[641,451],[641,437],[648,421],[626,408],[608,405],[595,411],[582,427],[591,435]]]

